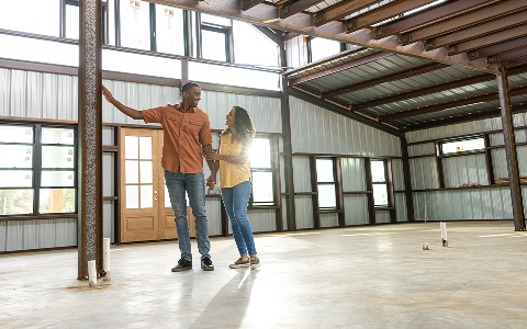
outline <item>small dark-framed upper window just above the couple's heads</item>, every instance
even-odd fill
[[[201,58],[232,61],[232,21],[209,14],[200,14]]]

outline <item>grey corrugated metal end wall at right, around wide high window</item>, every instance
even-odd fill
[[[515,126],[525,126],[527,114],[513,116]],[[501,131],[501,117],[476,122],[462,123],[448,127],[438,127],[406,134],[408,143],[448,138],[491,131]],[[526,140],[525,131],[516,131],[517,143]],[[491,146],[503,146],[503,133],[490,135]],[[434,144],[426,143],[408,147],[411,156],[435,154]],[[527,175],[527,147],[518,146],[518,166],[520,175]],[[508,178],[507,162],[504,149],[492,149],[492,164],[495,179]],[[462,157],[444,158],[441,160],[446,188],[456,188],[461,183],[489,184],[485,156],[470,155]],[[434,157],[415,158],[410,160],[412,185],[415,190],[438,189],[436,160]],[[525,194],[527,189],[522,188],[524,207],[527,204]],[[463,219],[511,219],[512,202],[508,186],[487,188],[476,190],[450,190],[417,192],[413,194],[416,220],[463,220]]]

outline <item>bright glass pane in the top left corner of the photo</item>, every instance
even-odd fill
[[[60,0],[1,2],[0,29],[59,36]]]

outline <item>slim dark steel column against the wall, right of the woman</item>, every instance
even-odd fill
[[[280,46],[280,65],[287,67],[288,57],[285,56],[285,42]],[[293,147],[291,145],[291,112],[289,107],[289,87],[288,79],[282,76],[282,141],[283,141],[283,183],[285,188],[285,214],[288,220],[288,230],[296,230],[296,211],[294,207],[294,181],[293,181]]]

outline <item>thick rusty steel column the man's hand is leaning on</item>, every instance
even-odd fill
[[[102,273],[101,0],[81,0],[79,26],[78,277]]]

